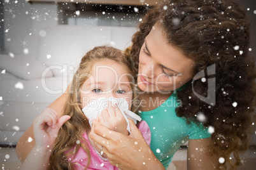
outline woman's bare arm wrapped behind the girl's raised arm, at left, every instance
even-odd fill
[[[57,112],[57,115],[59,115],[60,117],[60,115],[62,115],[62,110],[67,98],[68,98],[68,93],[66,92],[63,95],[61,95],[59,98],[57,98],[57,100],[53,101],[53,103],[50,104],[48,108],[52,108],[53,110],[55,110]],[[33,130],[33,126],[31,126],[21,136],[16,146],[16,154],[18,159],[20,159],[20,162],[24,162],[29,152],[31,152],[32,148],[34,148],[34,145],[35,145],[34,130]]]

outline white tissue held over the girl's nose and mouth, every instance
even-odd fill
[[[98,98],[97,100],[92,100],[82,109],[85,116],[89,119],[90,127],[92,127],[92,120],[96,119],[99,115],[101,115],[102,110],[108,107],[108,101],[111,101],[111,103],[113,104],[117,104],[117,106],[120,108],[120,111],[124,115],[125,121],[128,124],[127,131],[131,133],[128,118],[132,119],[132,121],[134,121],[134,123],[136,124],[137,121],[141,121],[141,117],[129,110],[129,105],[124,98],[113,98],[111,96],[108,98],[103,97]]]

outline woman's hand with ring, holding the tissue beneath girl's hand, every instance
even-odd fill
[[[90,138],[107,155],[113,166],[120,169],[164,169],[144,140],[134,122],[129,119],[131,134],[126,136],[101,126],[99,119],[92,124]]]

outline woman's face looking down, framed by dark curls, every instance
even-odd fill
[[[146,92],[173,91],[192,79],[195,66],[180,49],[167,43],[162,28],[155,25],[139,53],[138,86]]]

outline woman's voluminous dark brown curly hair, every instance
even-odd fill
[[[255,63],[248,50],[250,24],[245,20],[245,10],[233,0],[173,0],[150,9],[132,37],[132,47],[126,49],[135,58],[137,73],[139,51],[156,23],[164,30],[169,44],[197,63],[194,75],[215,65],[215,75],[211,75],[216,81],[215,91],[211,91],[216,96],[215,105],[195,95],[194,91],[204,97],[208,93],[208,81],[197,79],[178,91],[182,107],[176,108],[176,114],[187,118],[189,124],[198,122],[196,115],[203,113],[204,126],[215,129],[211,150],[235,169],[241,164],[239,154],[248,148],[255,98]],[[236,107],[232,106],[234,102]],[[229,159],[232,153],[236,162]],[[225,163],[219,166],[227,169]]]

